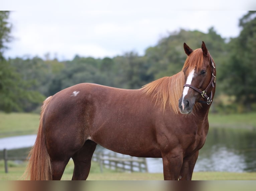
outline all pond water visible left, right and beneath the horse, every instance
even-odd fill
[[[29,147],[36,135],[0,139],[0,150]],[[101,146],[96,150],[112,152]],[[147,158],[149,172],[163,172],[161,158]],[[194,171],[256,171],[256,129],[210,128]]]

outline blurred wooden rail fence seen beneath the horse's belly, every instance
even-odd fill
[[[148,172],[146,158],[94,152],[92,160],[99,162],[101,172],[103,172],[103,166],[119,172]]]

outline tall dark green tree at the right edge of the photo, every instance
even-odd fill
[[[229,43],[231,56],[221,77],[226,81],[226,93],[235,95],[239,104],[251,110],[251,104],[256,102],[256,11],[244,15],[239,26],[242,31]]]

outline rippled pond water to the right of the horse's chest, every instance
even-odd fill
[[[212,128],[195,171],[256,171],[256,129]]]

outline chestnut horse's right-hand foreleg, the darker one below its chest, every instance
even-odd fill
[[[189,157],[185,157],[183,159],[183,164],[180,170],[179,180],[191,180],[193,170],[198,158],[199,151],[195,152],[193,155]]]

